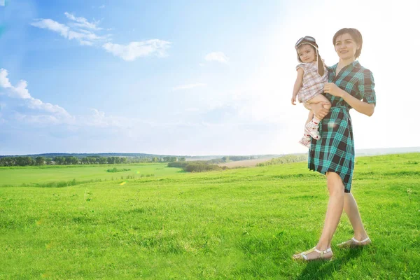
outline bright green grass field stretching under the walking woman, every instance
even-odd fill
[[[419,153],[356,159],[352,193],[372,244],[332,246],[331,262],[291,258],[316,244],[328,202],[305,162],[154,168],[123,186],[1,187],[0,279],[420,279]],[[118,174],[103,169],[1,169],[0,185]],[[351,237],[343,216],[333,244]]]

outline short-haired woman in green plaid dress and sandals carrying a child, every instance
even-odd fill
[[[330,194],[327,213],[318,244],[309,251],[293,255],[295,259],[318,260],[332,258],[331,239],[342,211],[346,212],[354,230],[354,237],[339,246],[365,246],[370,244],[358,211],[356,200],[350,193],[354,169],[354,143],[350,109],[372,116],[376,97],[372,72],[356,60],[362,50],[363,39],[357,29],[344,28],[332,38],[339,62],[328,69],[325,97],[330,100],[330,112],[323,104],[308,105],[315,116],[323,118],[321,139],[311,140],[308,167],[326,175]]]

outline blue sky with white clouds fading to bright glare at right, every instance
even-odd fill
[[[335,64],[342,27],[362,32],[377,82],[374,116],[352,112],[356,148],[419,146],[400,43],[419,3],[356,2],[0,0],[0,154],[304,152],[293,45],[315,36]]]

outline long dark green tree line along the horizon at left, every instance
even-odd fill
[[[28,165],[118,165],[129,163],[146,163],[146,162],[185,162],[186,158],[177,157],[101,157],[101,156],[87,156],[77,158],[74,156],[57,156],[53,158],[45,157],[3,157],[0,158],[0,166],[28,166]]]

